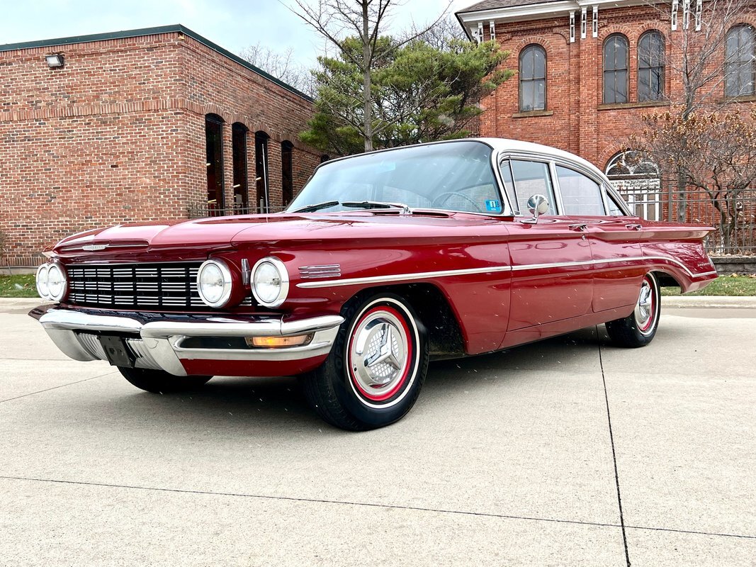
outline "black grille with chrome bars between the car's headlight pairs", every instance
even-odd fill
[[[177,311],[210,308],[197,293],[200,262],[72,265],[68,302],[107,308]]]

